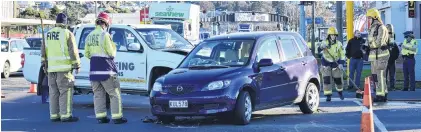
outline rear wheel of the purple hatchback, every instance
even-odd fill
[[[319,90],[317,89],[316,84],[311,82],[308,83],[304,98],[299,104],[301,112],[304,114],[312,114],[316,112],[319,108],[319,101]]]

